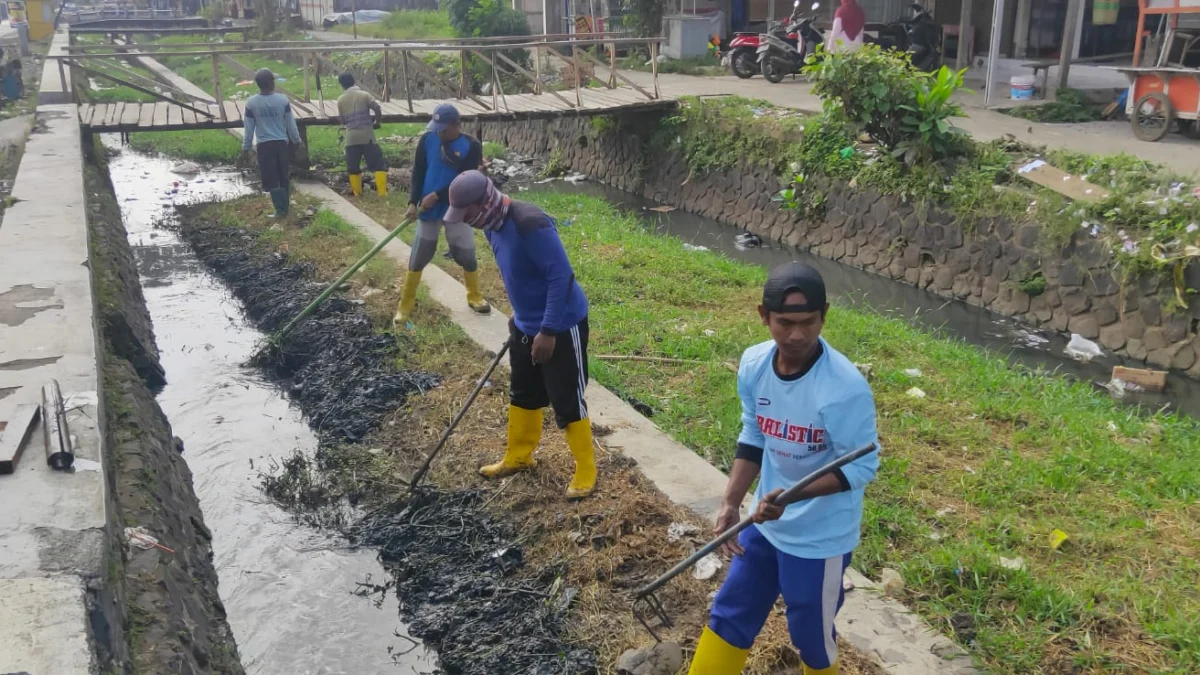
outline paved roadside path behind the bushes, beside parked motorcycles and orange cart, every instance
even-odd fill
[[[598,74],[604,68],[596,68]],[[650,73],[620,71],[642,86],[649,88],[654,79]],[[768,103],[812,113],[821,112],[821,98],[803,80],[785,79],[770,84],[761,77],[738,79],[725,77],[695,77],[686,74],[659,74],[659,86],[670,96],[720,96],[738,95],[761,98]],[[1200,175],[1200,142],[1172,133],[1158,143],[1146,143],[1134,137],[1129,123],[1105,121],[1088,124],[1039,124],[1031,123],[995,110],[972,107],[979,97],[966,97],[967,117],[954,120],[976,139],[995,141],[1013,137],[1022,143],[1045,145],[1076,153],[1112,155],[1126,153],[1151,162],[1170,167],[1184,175]]]

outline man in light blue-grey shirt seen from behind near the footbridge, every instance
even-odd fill
[[[241,150],[250,151],[258,137],[258,173],[263,179],[263,192],[271,196],[275,204],[275,217],[287,217],[289,168],[292,166],[292,144],[300,145],[300,130],[292,113],[288,97],[275,91],[275,73],[263,68],[254,73],[258,94],[246,100],[246,114],[242,120],[245,135]]]

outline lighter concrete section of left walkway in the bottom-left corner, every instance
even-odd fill
[[[84,590],[72,579],[0,579],[0,673],[95,673]]]

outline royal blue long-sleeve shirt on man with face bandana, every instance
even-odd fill
[[[588,299],[546,211],[514,201],[504,223],[487,232],[487,243],[522,333],[557,335],[587,318]]]

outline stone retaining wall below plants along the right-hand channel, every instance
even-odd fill
[[[1145,277],[1122,289],[1111,255],[1084,233],[1051,250],[1032,223],[996,217],[964,228],[941,209],[845,184],[826,186],[823,220],[805,220],[772,201],[781,187],[772,168],[742,163],[690,174],[680,153],[653,151],[644,130],[658,121],[628,115],[616,132],[582,118],[473,124],[468,131],[516,153],[557,154],[596,180],[763,238],[1200,376],[1200,300],[1171,312],[1169,283]],[[1024,293],[1020,282],[1039,271],[1044,292]],[[1192,265],[1187,280],[1200,287],[1200,267]]]

